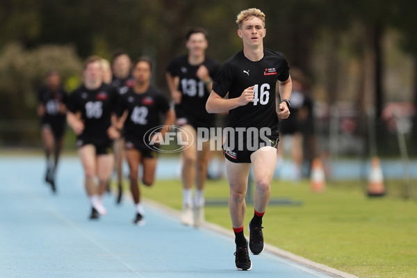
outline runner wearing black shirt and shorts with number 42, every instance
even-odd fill
[[[157,153],[150,149],[145,142],[147,131],[161,124],[160,115],[165,114],[164,125],[174,124],[174,111],[170,109],[170,103],[155,88],[150,86],[152,74],[152,61],[147,57],[141,57],[133,65],[133,88],[120,97],[117,104],[116,115],[118,122],[123,123],[126,139],[126,158],[130,169],[130,187],[133,201],[136,205],[135,224],[145,224],[142,203],[140,202],[140,189],[138,186],[138,168],[142,164],[142,182],[146,186],[152,186],[155,179]],[[127,117],[122,115],[127,112]],[[165,134],[166,129],[161,131]]]

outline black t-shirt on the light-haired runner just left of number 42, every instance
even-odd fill
[[[111,115],[115,111],[117,92],[111,85],[102,83],[96,90],[88,90],[84,85],[70,95],[68,111],[81,112],[84,130],[79,139],[106,142],[110,138],[107,129],[111,126]]]

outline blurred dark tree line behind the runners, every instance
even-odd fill
[[[207,54],[222,63],[242,49],[236,15],[254,6],[266,14],[265,47],[283,52],[291,68],[306,74],[311,96],[323,104],[318,115],[350,104],[357,132],[366,137],[368,111],[375,111],[377,130],[385,134],[386,104],[416,105],[417,17],[411,0],[4,0],[0,144],[38,140],[37,91],[50,68],[74,90],[84,58],[110,60],[122,48],[133,60],[150,56],[153,82],[167,93],[165,68],[186,53],[186,30],[206,28]]]

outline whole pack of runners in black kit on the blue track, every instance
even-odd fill
[[[48,161],[45,179],[52,189],[56,190],[56,165],[66,121],[77,136],[90,218],[97,219],[107,213],[101,198],[108,188],[115,164],[119,188],[117,202],[121,202],[121,165],[122,158],[126,157],[136,208],[133,223],[144,224],[138,177],[145,186],[152,185],[158,156],[158,152],[148,147],[145,133],[161,124],[175,124],[181,126],[178,136],[183,142],[189,140],[189,135],[196,139],[188,142],[190,147],[183,149],[181,154],[181,222],[198,227],[204,221],[204,183],[210,152],[209,142],[201,142],[197,148],[198,129],[215,126],[214,113],[229,113],[227,127],[230,132],[224,138],[223,153],[230,187],[231,224],[236,235],[235,262],[238,270],[250,270],[249,251],[260,254],[263,250],[262,218],[270,198],[270,182],[277,162],[279,120],[290,115],[292,83],[283,54],[263,47],[266,29],[265,15],[261,10],[250,8],[241,11],[236,23],[243,50],[222,65],[205,54],[208,47],[206,30],[192,28],[188,31],[188,54],[174,58],[167,66],[166,79],[172,105],[160,90],[151,85],[152,60],[145,56],[130,65],[126,53],[115,54],[111,63],[111,81],[105,78],[108,76],[106,63],[98,56],[90,56],[84,63],[82,84],[69,95],[59,86],[58,72],[49,72],[48,86],[40,93],[38,110],[42,116],[42,136]],[[161,115],[165,122],[161,122]],[[249,131],[265,128],[269,131],[265,136]],[[166,131],[161,129],[159,132],[163,135]],[[51,152],[55,153],[54,158]],[[140,165],[141,173],[138,172]],[[251,167],[256,190],[248,243],[243,222]]]

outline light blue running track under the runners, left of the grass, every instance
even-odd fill
[[[150,204],[147,224],[135,226],[133,204],[116,206],[111,195],[108,215],[90,221],[78,158],[61,159],[57,195],[44,170],[41,157],[0,157],[0,277],[353,277],[265,251],[251,255],[250,272],[237,271],[231,236],[184,227]]]

